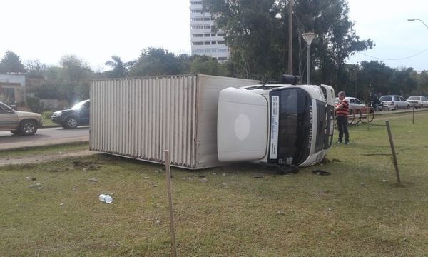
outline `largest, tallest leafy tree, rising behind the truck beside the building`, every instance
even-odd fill
[[[346,74],[341,70],[346,69],[345,60],[371,48],[372,41],[357,36],[346,0],[293,2],[293,67],[298,68],[294,73],[305,74],[302,53],[306,44],[301,34],[312,31],[317,34],[311,45],[312,67],[317,67],[314,82],[339,84],[343,79],[339,74]],[[227,31],[225,41],[231,48],[234,74],[271,80],[287,70],[288,4],[285,0],[203,0],[205,9],[218,16],[217,28]]]

